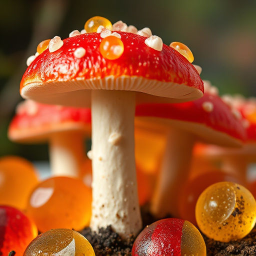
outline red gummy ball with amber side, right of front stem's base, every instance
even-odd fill
[[[132,256],[206,256],[204,240],[189,221],[165,218],[146,226],[135,239]]]

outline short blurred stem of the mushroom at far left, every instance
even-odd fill
[[[78,177],[84,157],[82,132],[62,131],[51,135],[49,139],[49,160],[53,176]]]

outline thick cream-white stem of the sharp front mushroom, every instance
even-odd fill
[[[92,216],[90,227],[111,225],[126,239],[142,227],[134,157],[135,92],[93,90]]]

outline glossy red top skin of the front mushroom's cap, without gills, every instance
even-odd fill
[[[159,81],[173,81],[203,91],[198,72],[188,60],[173,48],[163,45],[162,51],[148,47],[145,37],[117,31],[124,44],[123,54],[109,60],[102,57],[99,33],[85,33],[63,40],[58,50],[44,50],[28,66],[20,82],[20,89],[29,83],[67,81],[83,77],[102,78],[109,75],[142,76]],[[86,51],[81,58],[73,54],[78,47]]]

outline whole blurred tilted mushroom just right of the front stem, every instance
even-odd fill
[[[205,88],[203,97],[194,101],[137,105],[136,118],[144,125],[155,122],[169,129],[151,201],[151,212],[157,217],[178,216],[176,195],[188,176],[196,140],[237,147],[245,138],[241,120],[233,115],[230,106],[221,100],[213,86]]]

